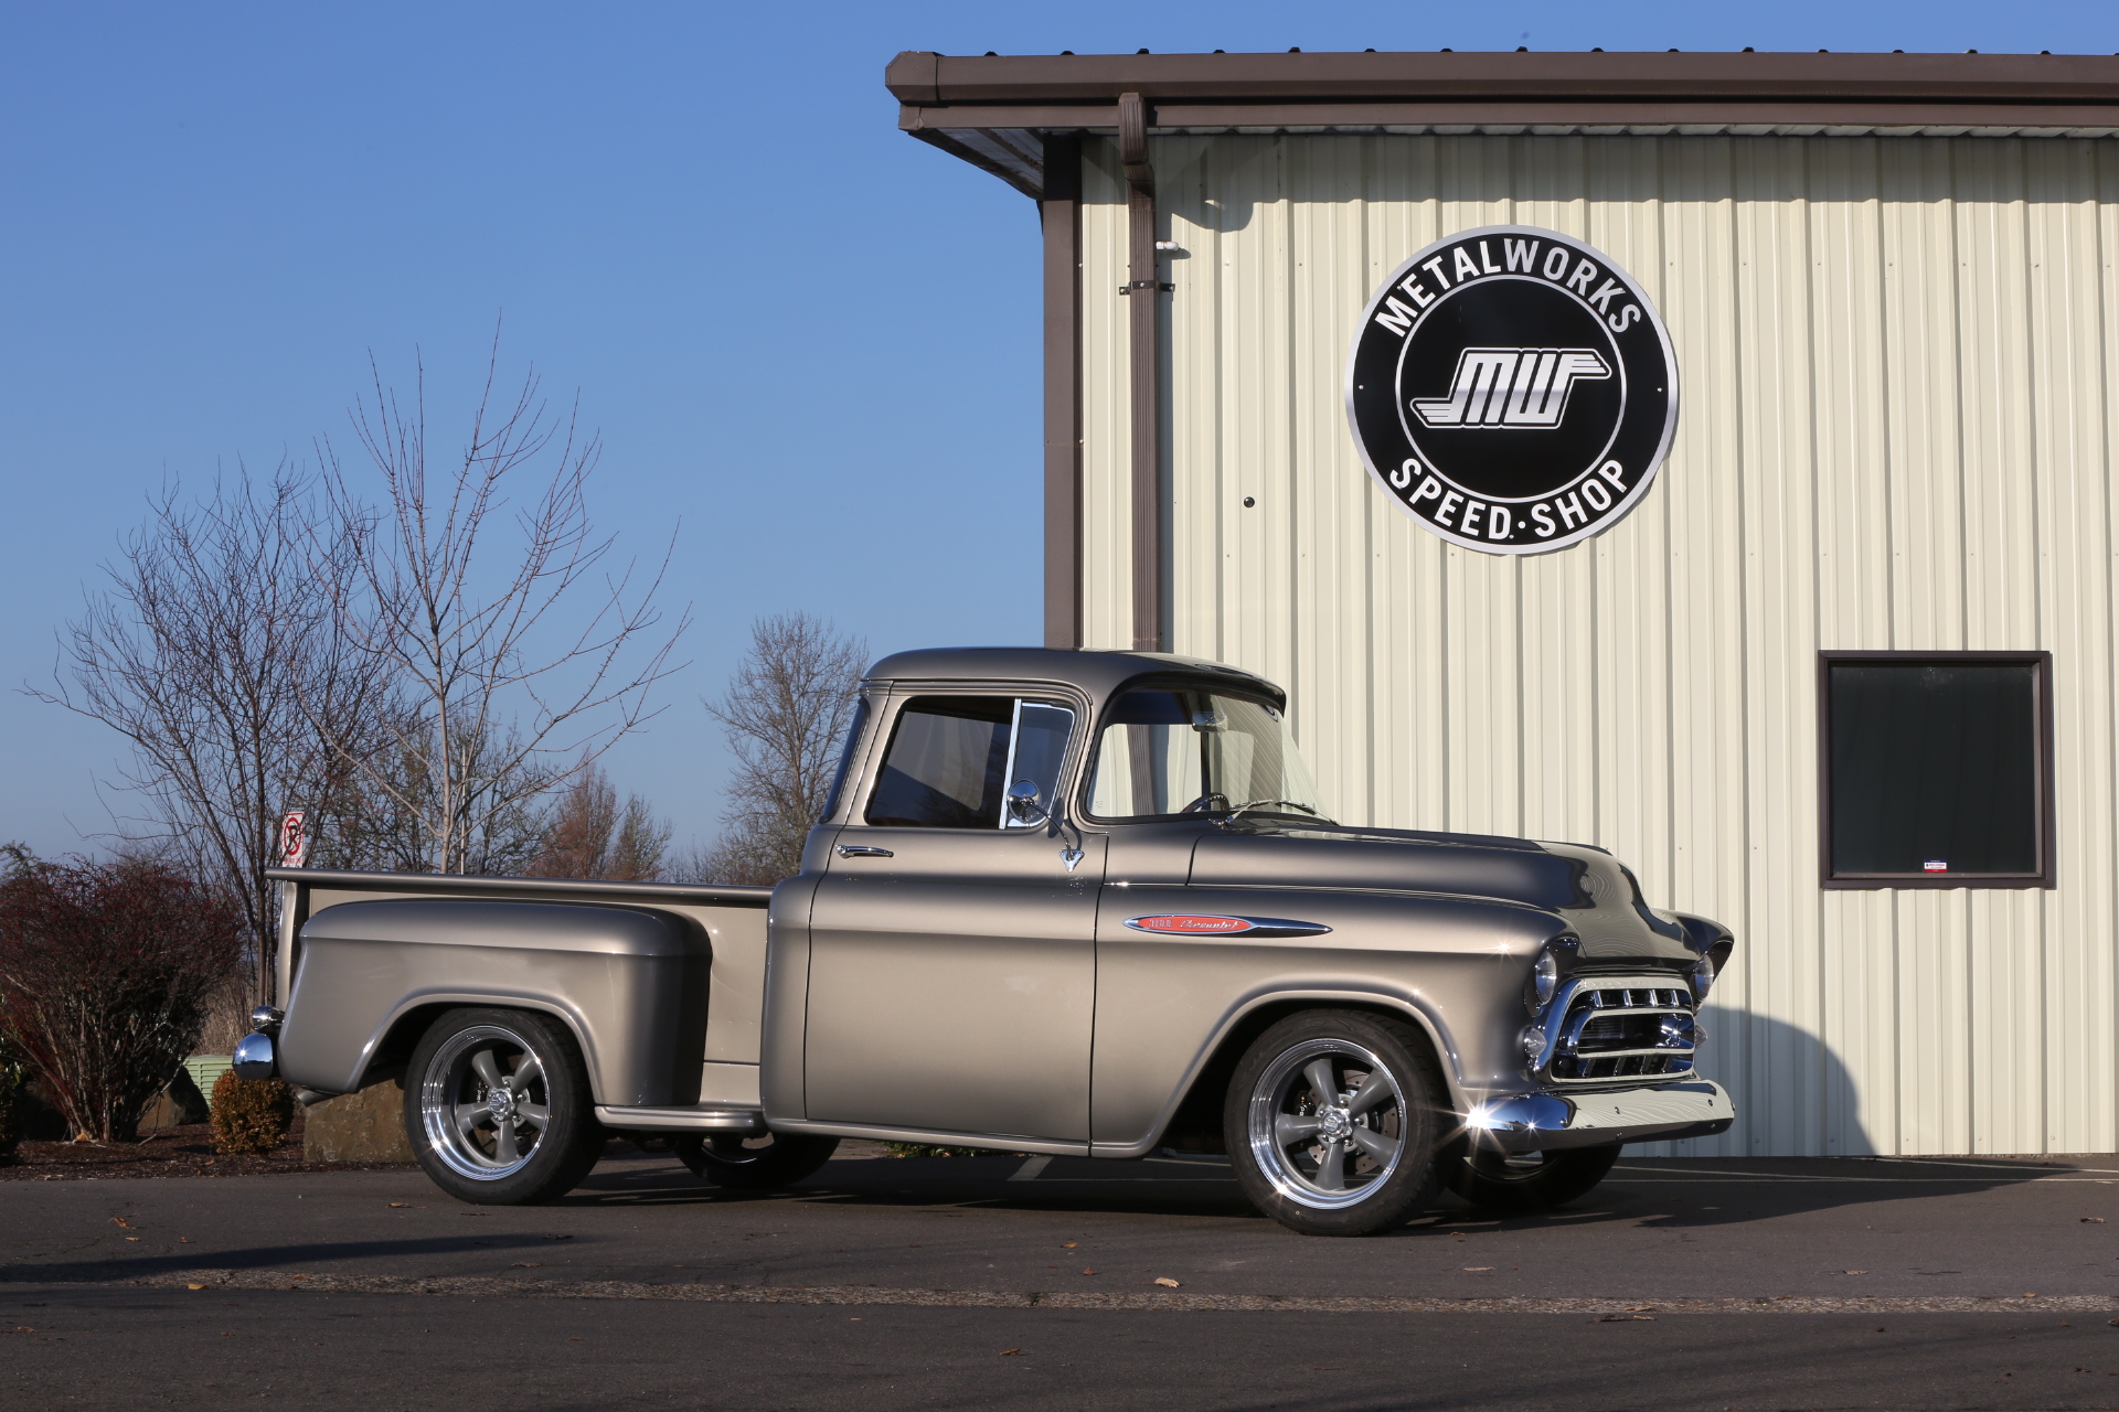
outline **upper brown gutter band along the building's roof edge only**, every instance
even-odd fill
[[[1649,99],[2119,104],[2119,55],[1939,53],[901,53],[905,104]]]

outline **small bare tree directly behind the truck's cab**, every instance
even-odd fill
[[[778,883],[801,870],[867,658],[867,641],[805,612],[750,624],[750,652],[729,690],[706,703],[729,737],[735,777],[727,823],[697,866],[699,881]]]

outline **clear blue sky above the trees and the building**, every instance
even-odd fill
[[[1038,635],[1028,199],[894,127],[901,49],[2119,51],[2104,4],[11,4],[0,11],[0,686],[165,476],[343,438],[373,351],[437,432],[506,318],[581,394],[598,519],[682,521],[697,627],[610,760],[712,832],[699,709],[752,616],[873,650]],[[0,692],[0,838],[108,828],[121,743]]]

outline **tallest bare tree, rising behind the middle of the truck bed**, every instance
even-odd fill
[[[381,476],[379,514],[364,512],[354,474],[322,445],[337,531],[360,546],[350,572],[328,578],[333,618],[392,680],[398,709],[381,722],[379,752],[318,728],[396,817],[415,855],[403,866],[426,872],[511,870],[506,845],[540,796],[648,720],[648,688],[672,671],[687,624],[655,635],[661,569],[638,595],[634,565],[602,569],[612,540],[593,536],[585,500],[598,438],[572,413],[549,415],[534,373],[513,400],[496,400],[496,377],[498,349],[468,442],[430,478],[424,368],[411,406],[375,375],[354,432]],[[540,474],[504,514],[509,491]],[[519,544],[481,555],[509,521]],[[311,542],[311,559],[333,563],[331,546]],[[585,595],[587,612],[574,612]],[[574,756],[581,764],[564,764]]]

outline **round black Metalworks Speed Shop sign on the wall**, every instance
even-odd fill
[[[1655,305],[1536,227],[1437,241],[1369,301],[1346,377],[1360,459],[1441,538],[1541,555],[1640,502],[1678,426]]]

